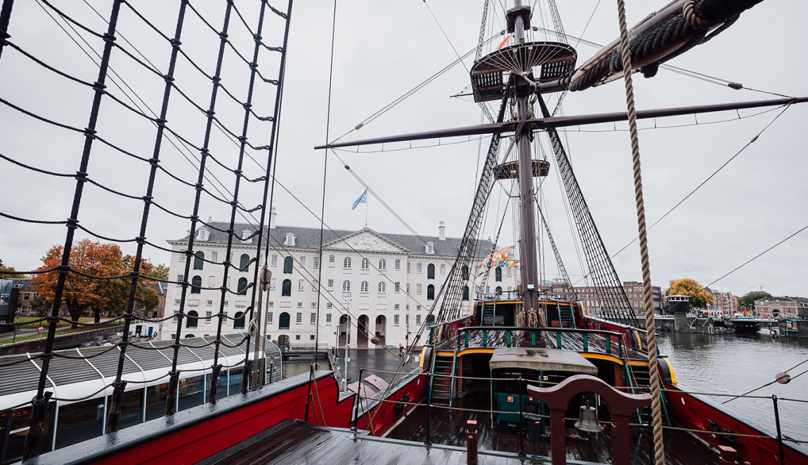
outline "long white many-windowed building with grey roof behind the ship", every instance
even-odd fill
[[[226,230],[226,223],[213,226]],[[243,226],[243,227],[242,227]],[[443,227],[443,226],[441,226]],[[204,228],[204,226],[203,226]],[[243,230],[242,230],[243,229]],[[242,268],[242,264],[255,257],[256,238],[246,225],[237,225],[230,260],[227,287],[234,293],[225,294],[221,305],[221,288],[225,267],[227,235],[210,228],[198,231],[193,246],[195,254],[202,252],[204,259],[217,264],[191,258],[185,313],[196,311],[197,320],[186,318],[184,337],[214,337],[217,334],[219,309],[230,318],[239,318],[251,305],[253,289],[246,295],[237,295],[238,289],[251,283],[255,276],[255,263]],[[418,327],[427,320],[429,309],[440,309],[440,288],[452,268],[461,239],[416,237],[377,233],[365,228],[358,231],[326,231],[319,260],[320,230],[292,226],[271,228],[271,250],[267,268],[271,271],[270,290],[264,296],[267,307],[267,337],[292,347],[312,347],[317,337],[319,308],[320,347],[342,347],[347,333],[351,347],[374,347],[369,339],[377,337],[380,345],[398,347],[415,338]],[[442,230],[440,230],[442,233]],[[243,240],[242,240],[243,238]],[[182,281],[187,265],[181,253],[187,247],[187,237],[168,241],[176,252],[172,254],[170,280]],[[490,252],[491,244],[481,241],[478,255]],[[263,251],[261,252],[263,264]],[[503,291],[516,289],[519,273],[507,268],[490,277],[475,276],[479,259],[469,270],[469,299],[479,292],[491,293],[501,287]],[[201,269],[198,269],[201,268]],[[243,269],[243,271],[242,271]],[[322,273],[322,276],[321,276]],[[501,281],[495,281],[499,276]],[[318,297],[317,281],[322,282]],[[194,283],[201,282],[201,289]],[[166,316],[179,312],[181,284],[170,284],[166,293]],[[256,297],[257,301],[257,297]],[[257,305],[257,304],[256,304]],[[463,301],[464,311],[471,301]],[[346,324],[350,318],[350,324]],[[245,318],[246,319],[246,318]],[[196,324],[196,327],[194,325]],[[162,338],[176,334],[176,320],[163,326]],[[243,332],[248,321],[226,319],[222,334]],[[349,329],[350,331],[348,331]],[[361,330],[361,331],[360,331]],[[425,338],[425,336],[424,336]],[[419,344],[425,342],[424,338]]]

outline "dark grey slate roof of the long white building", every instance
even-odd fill
[[[222,230],[227,230],[229,228],[229,223],[227,222],[208,222],[213,227],[201,226],[200,229],[210,231],[207,240],[200,241],[195,240],[195,244],[226,244],[228,234],[226,232],[222,232]],[[213,229],[216,228],[216,229]],[[234,245],[242,245],[242,244],[251,244],[255,246],[258,243],[258,237],[253,236],[248,241],[242,241],[239,239],[242,237],[243,231],[248,230],[250,233],[255,232],[255,226],[247,224],[247,223],[236,223],[234,226],[234,234],[236,237],[234,238]],[[267,228],[264,227],[264,234],[266,237]],[[416,235],[402,235],[402,234],[392,234],[392,233],[382,233],[376,230],[372,230],[368,227],[365,227],[361,230],[323,230],[322,231],[322,243],[323,244],[336,244],[340,243],[340,239],[347,239],[349,236],[357,235],[361,232],[368,232],[372,235],[377,235],[382,239],[393,243],[394,245],[398,246],[406,253],[410,255],[427,255],[425,253],[425,245],[426,243],[432,243],[435,248],[436,256],[446,256],[446,257],[455,257],[457,256],[457,251],[460,249],[461,245],[461,238],[446,238],[444,240],[440,240],[437,236],[416,236]],[[311,227],[301,227],[301,226],[276,226],[271,229],[271,234],[269,236],[269,242],[272,247],[281,248],[284,245],[284,241],[286,240],[286,235],[289,233],[295,235],[295,245],[290,247],[295,250],[298,249],[309,249],[309,250],[316,250],[320,247],[320,229],[319,228],[311,228]],[[168,241],[169,243],[187,243],[188,235],[184,235],[180,239],[176,239],[173,241]],[[488,255],[493,247],[493,243],[489,240],[480,240],[478,241],[477,247],[477,258],[482,258]],[[432,255],[432,254],[428,254]]]

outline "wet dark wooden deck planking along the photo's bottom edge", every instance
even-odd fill
[[[274,430],[260,441],[238,450],[225,450],[217,460],[208,463],[248,465],[252,463],[284,463],[284,465],[310,463],[402,463],[411,465],[442,463],[444,465],[467,463],[465,448],[465,421],[461,416],[452,418],[432,414],[436,426],[432,446],[423,441],[398,438],[374,438],[368,431],[358,431],[320,426],[289,424],[282,430]],[[409,421],[414,418],[415,421]],[[423,417],[416,413],[408,418],[409,425],[396,431],[425,434]],[[485,421],[481,421],[482,424]],[[402,425],[403,426],[403,425]],[[417,437],[418,434],[415,434]],[[651,463],[648,453],[648,438],[638,434],[632,444],[633,463]],[[439,443],[438,440],[447,443]],[[700,463],[718,465],[718,455],[696,442],[688,434],[667,434],[666,463],[690,465]],[[497,446],[494,450],[492,446]],[[611,441],[608,434],[599,434],[596,440],[570,440],[567,438],[567,463],[610,463]],[[519,456],[519,439],[516,432],[503,434],[482,428],[480,432],[478,463],[481,465],[549,463],[549,439],[525,440],[524,458]]]

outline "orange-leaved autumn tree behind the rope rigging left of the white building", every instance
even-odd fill
[[[61,264],[64,248],[61,245],[51,247],[42,257],[39,270],[56,268]],[[101,312],[122,313],[126,308],[131,289],[132,278],[129,276],[117,279],[95,279],[90,276],[122,276],[133,270],[133,255],[123,255],[116,244],[100,243],[90,239],[82,239],[74,243],[70,251],[69,265],[74,272],[69,272],[62,292],[62,303],[67,309],[74,327],[78,326],[78,318],[83,313],[91,312],[95,322],[100,322]],[[153,271],[148,261],[142,260],[141,272],[146,276]],[[78,274],[80,272],[82,274]],[[59,274],[55,271],[34,276],[32,286],[41,297],[53,305]],[[135,297],[141,305],[157,305],[157,293],[153,289],[154,281],[138,280]]]

